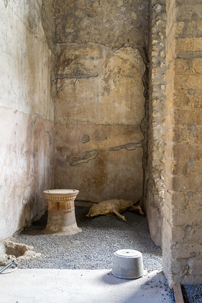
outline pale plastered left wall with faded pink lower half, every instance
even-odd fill
[[[0,238],[44,210],[53,187],[53,1],[3,0],[0,48]]]

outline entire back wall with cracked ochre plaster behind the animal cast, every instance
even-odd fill
[[[55,188],[138,201],[149,1],[57,1]]]

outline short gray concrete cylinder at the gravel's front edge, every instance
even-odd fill
[[[114,252],[112,275],[124,279],[140,278],[144,274],[142,254],[133,249]]]

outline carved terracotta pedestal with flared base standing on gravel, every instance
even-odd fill
[[[74,200],[76,189],[51,189],[43,191],[48,201],[48,220],[44,234],[75,235],[82,231],[77,226]]]

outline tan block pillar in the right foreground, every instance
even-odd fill
[[[202,281],[202,1],[167,0],[163,268],[169,284]]]

